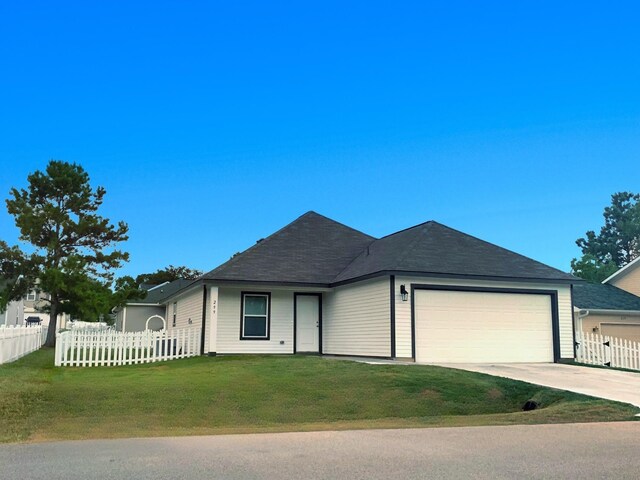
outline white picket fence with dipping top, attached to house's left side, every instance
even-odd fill
[[[160,362],[200,354],[200,328],[159,332],[69,330],[56,338],[56,366],[96,367]]]

